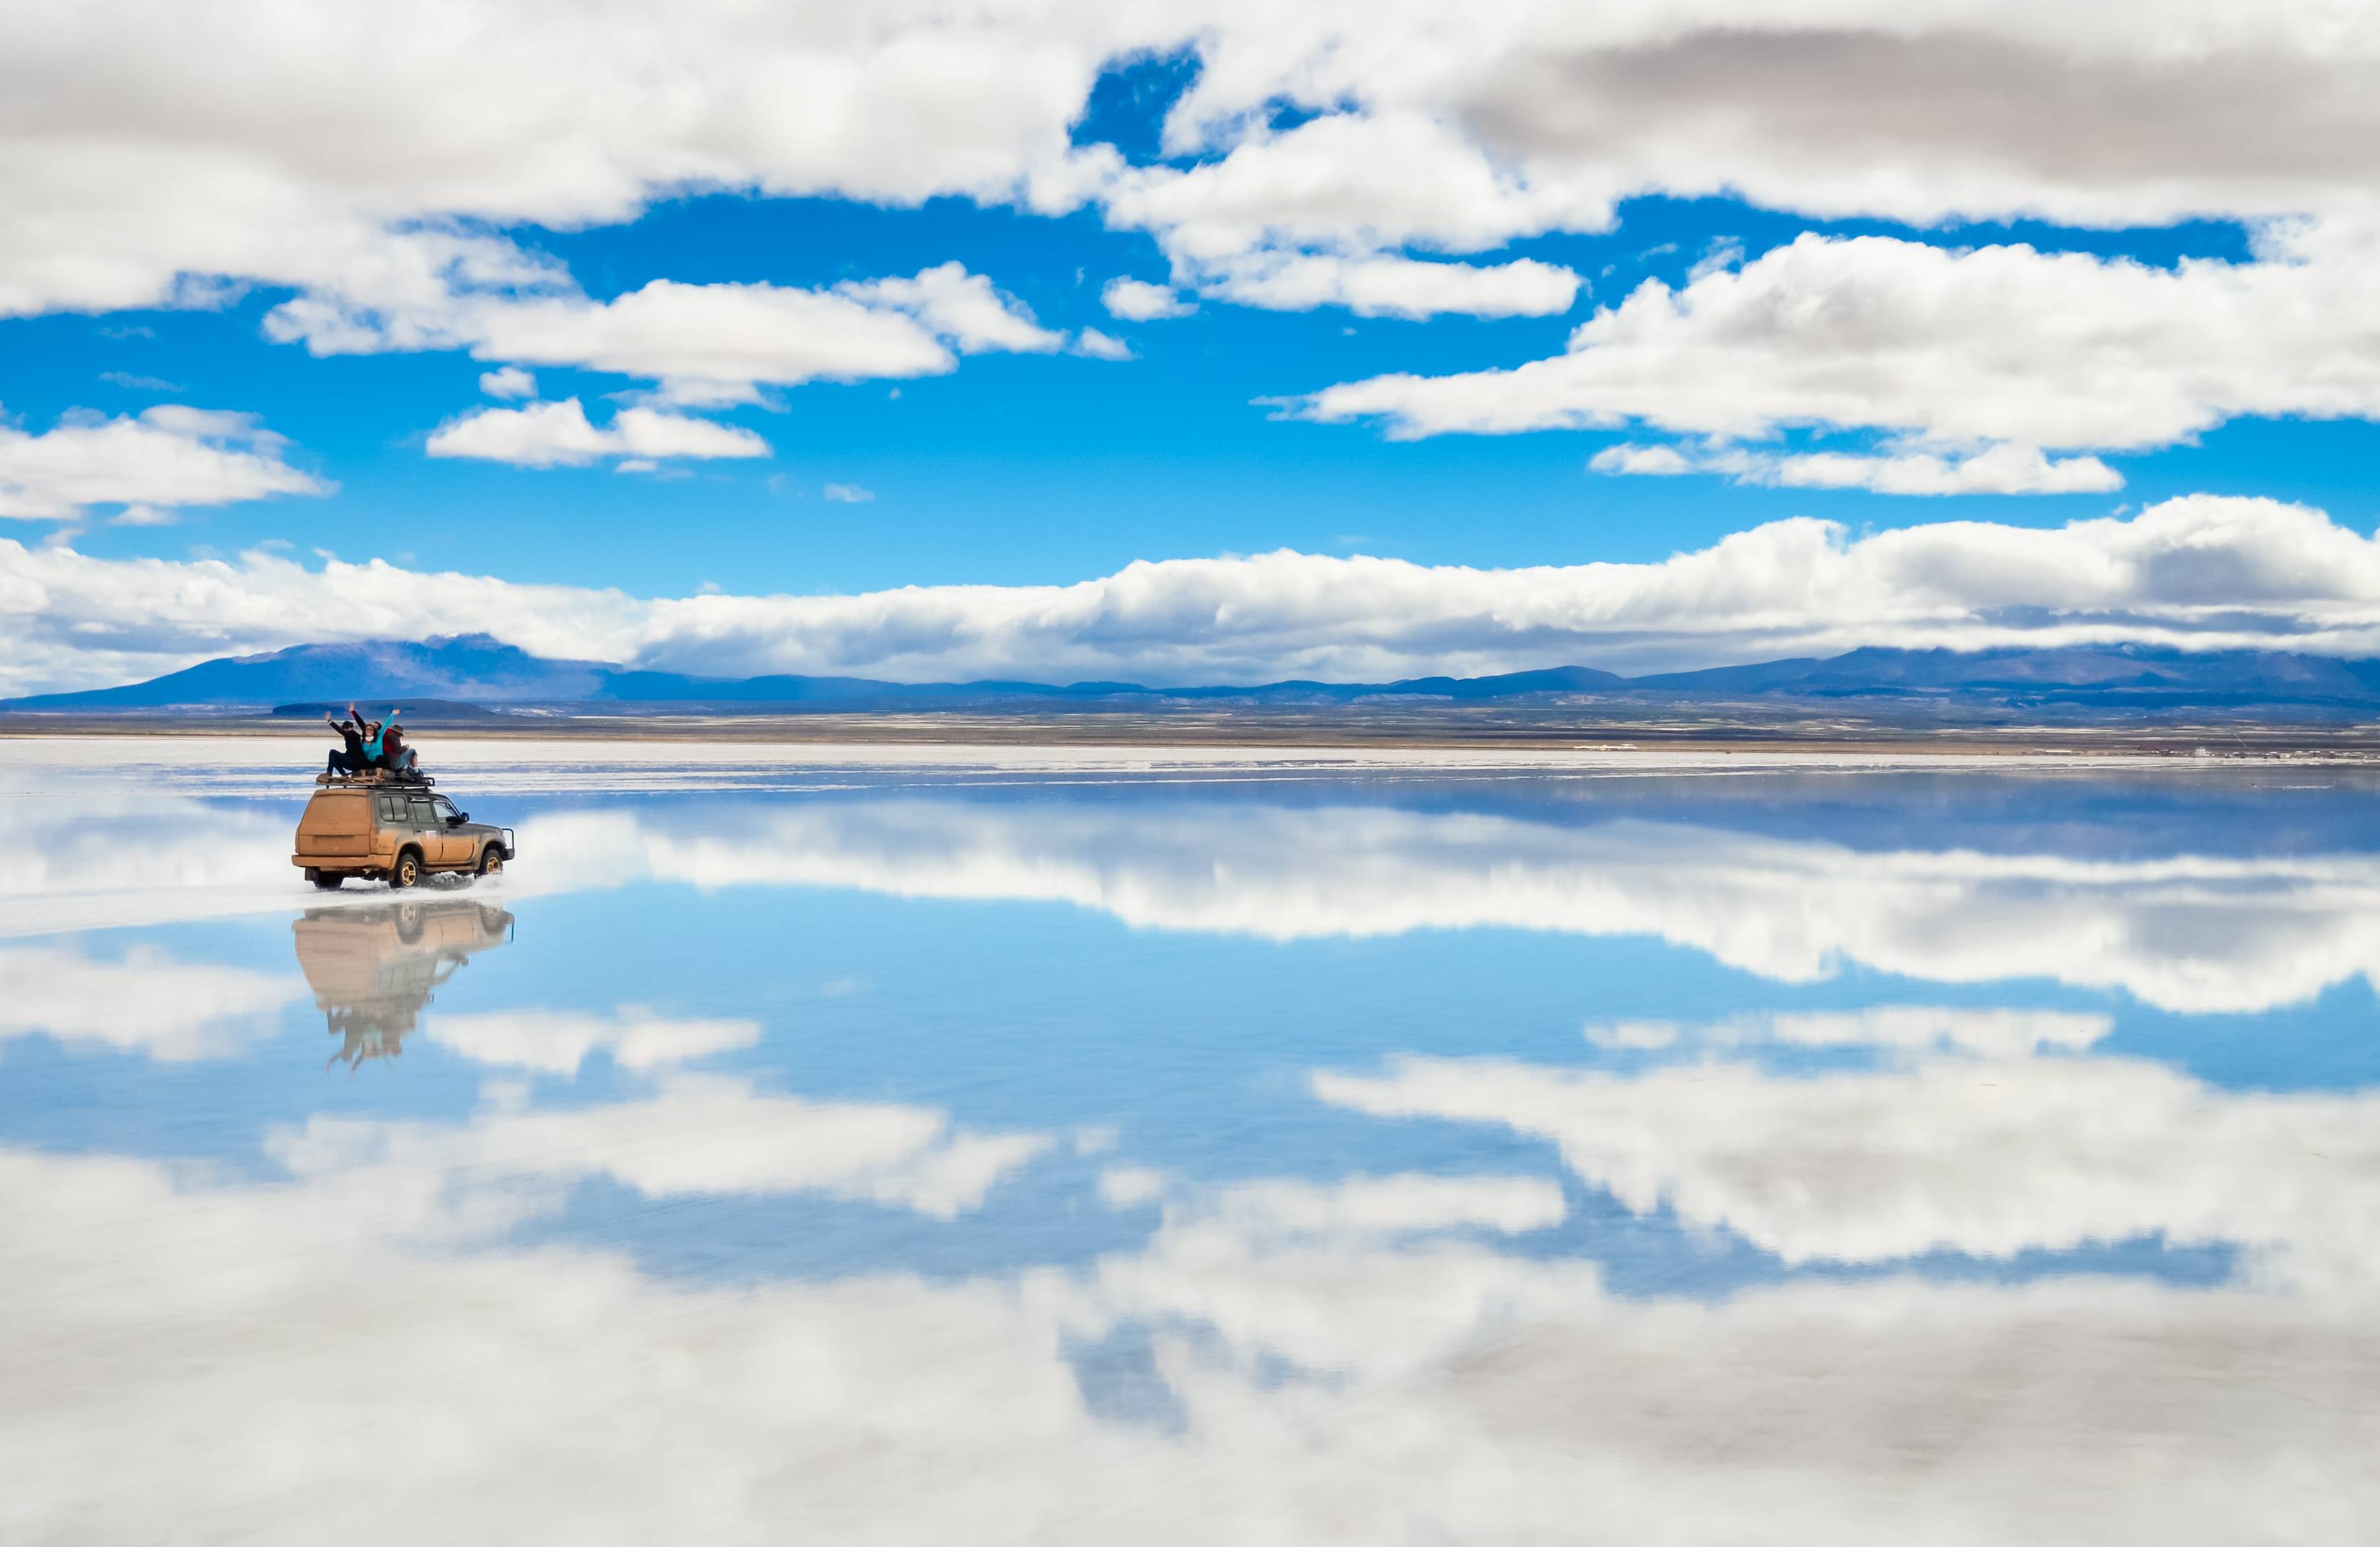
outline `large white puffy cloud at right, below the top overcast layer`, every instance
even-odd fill
[[[2173,445],[2242,414],[2380,416],[2368,245],[2328,231],[2261,262],[2152,269],[2023,245],[1952,252],[1802,236],[1683,290],[1647,281],[1552,359],[1378,376],[1309,397],[1316,419],[1397,436],[1647,424],[1759,438],[1878,428],[1999,447],[1935,457],[1752,457],[1754,476],[1947,493],[1968,483],[2106,488],[2040,450]],[[2318,359],[2320,369],[2306,369]],[[1923,450],[1923,447],[1921,447]],[[1992,459],[1997,457],[1997,462]]]

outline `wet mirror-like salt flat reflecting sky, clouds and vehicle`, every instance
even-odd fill
[[[5,1542],[2380,1537],[2366,776],[481,743],[317,897],[129,745],[0,740]]]

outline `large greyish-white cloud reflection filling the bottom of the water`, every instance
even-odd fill
[[[2380,1511],[2363,1299],[1878,1280],[1628,1302],[1478,1240],[1192,1214],[1081,1278],[724,1290],[569,1247],[409,1250],[319,1173],[0,1152],[0,1535],[1523,1542],[1592,1521],[1980,1547],[2347,1542]],[[1100,1421],[1069,1364],[1133,1326],[1171,1438]]]

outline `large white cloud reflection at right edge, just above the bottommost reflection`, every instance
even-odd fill
[[[1785,1078],[1697,1061],[1609,1076],[1502,1059],[1319,1073],[1373,1116],[1499,1123],[1637,1214],[1673,1207],[1787,1261],[2006,1257],[2163,1235],[2271,1271],[2380,1278],[2380,1092],[2263,1095],[2104,1057],[1937,1057]]]

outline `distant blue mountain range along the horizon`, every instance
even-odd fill
[[[1259,683],[1145,688],[1140,683],[881,683],[857,676],[709,678],[528,654],[483,633],[421,643],[293,645],[174,671],[148,683],[0,700],[0,712],[283,709],[312,714],[347,700],[452,716],[521,709],[597,712],[895,712],[895,709],[1145,709],[1169,704],[1345,707],[1361,702],[1633,700],[1647,704],[1804,700],[1880,707],[1966,704],[2035,709],[2380,712],[2380,662],[2287,652],[2206,652],[2104,645],[2080,650],[1854,650],[1830,659],[1616,676],[1552,666],[1502,676],[1421,676],[1395,683]]]

